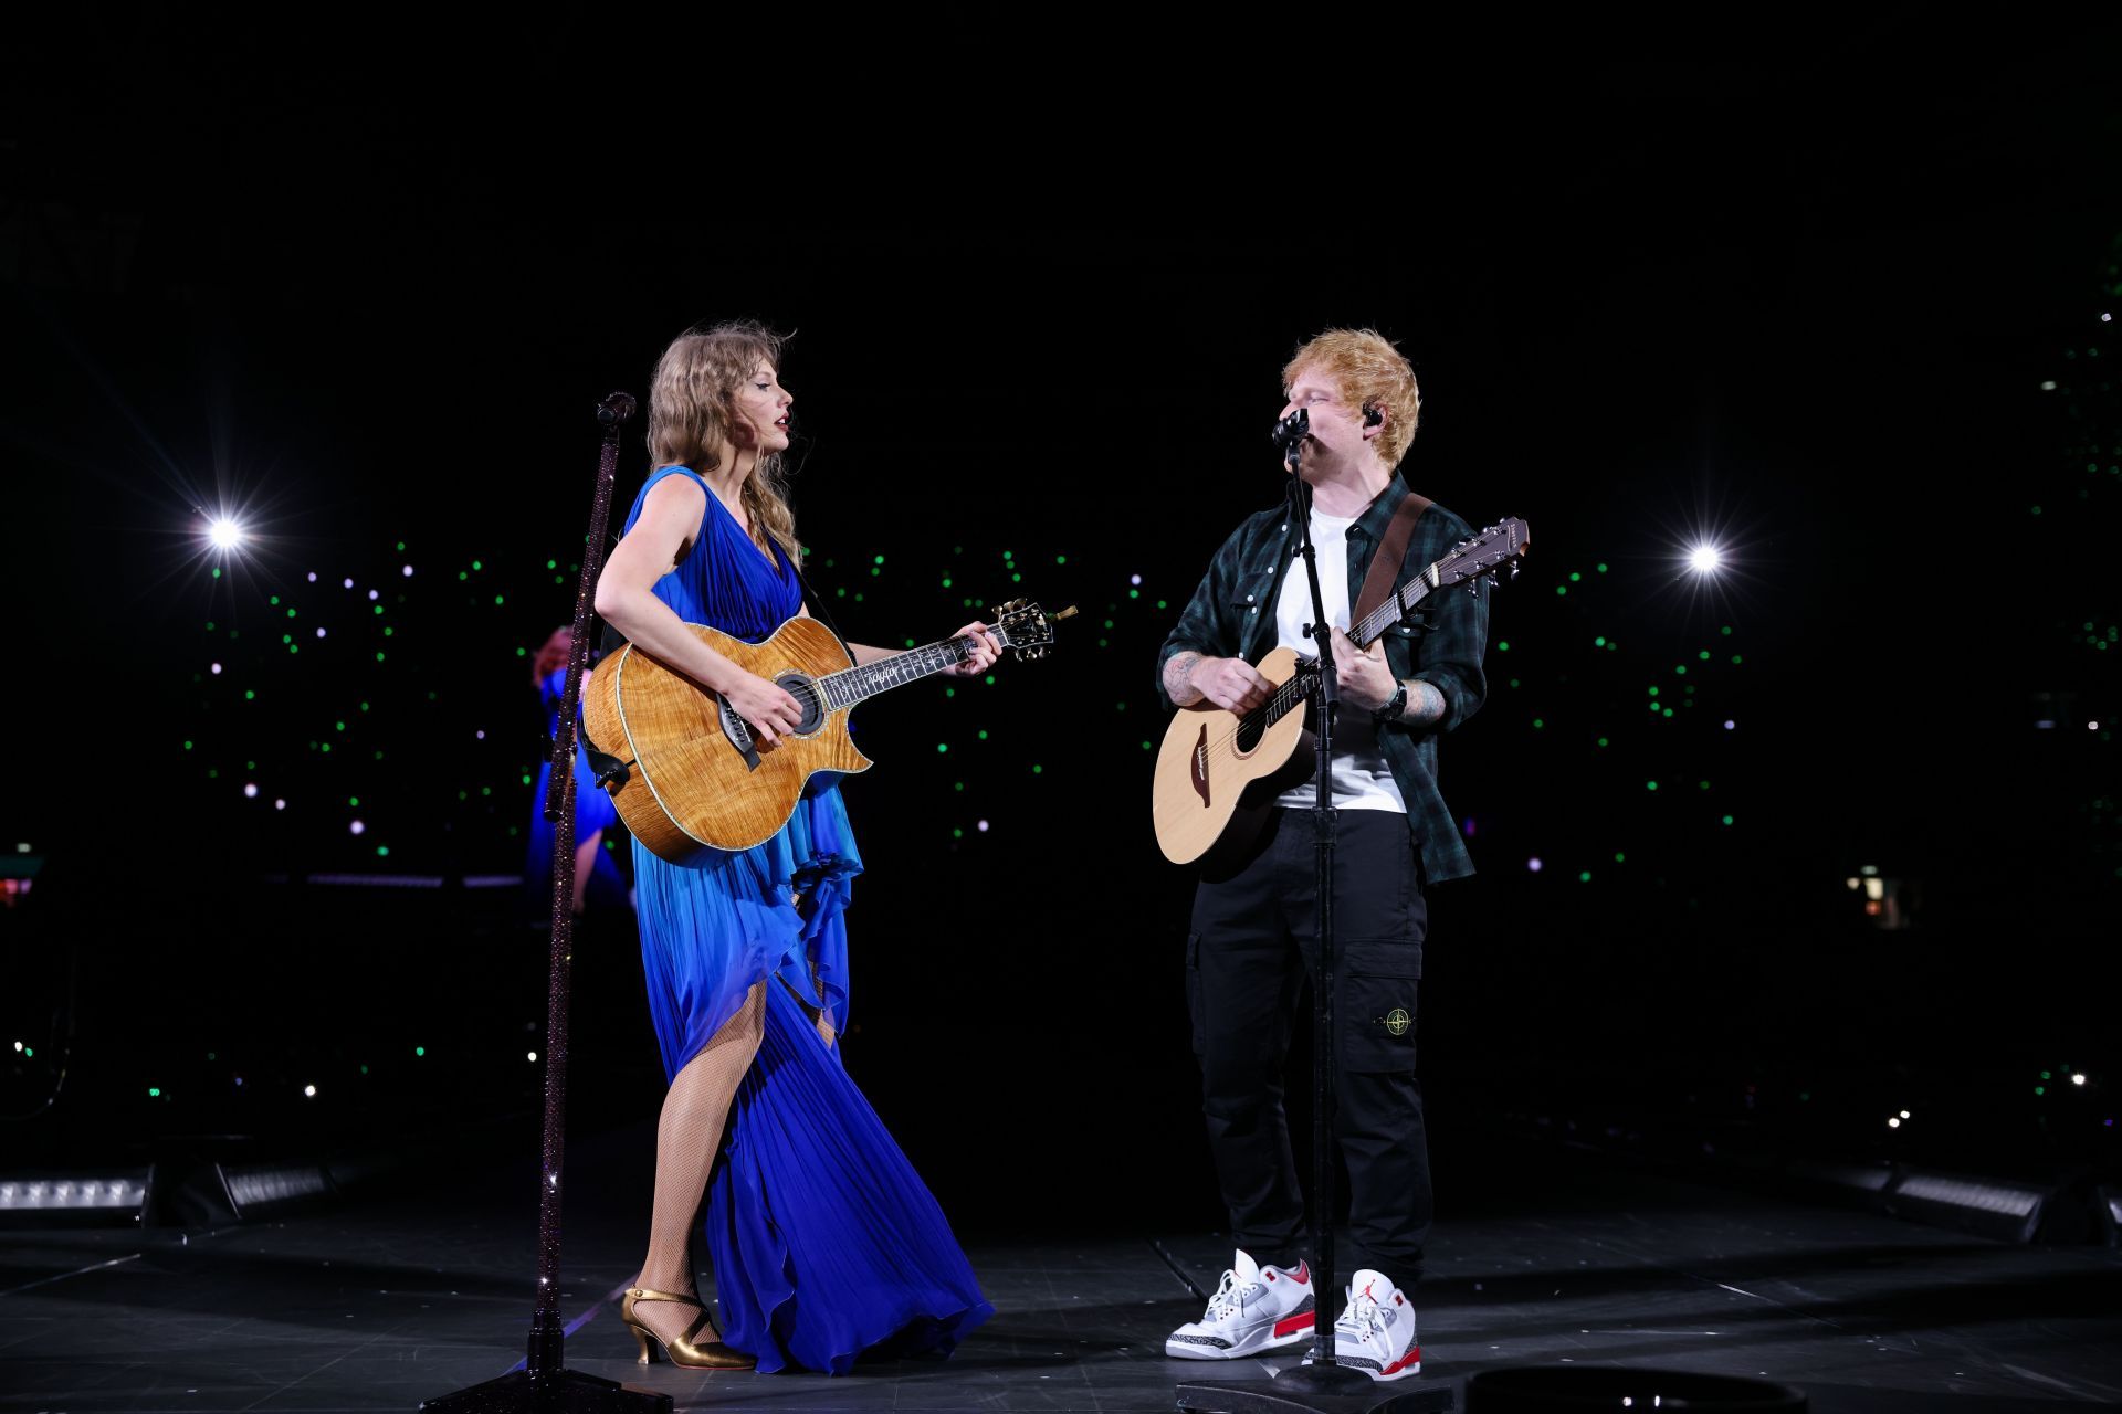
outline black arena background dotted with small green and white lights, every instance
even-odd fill
[[[859,721],[849,1064],[953,1213],[1216,1219],[1154,651],[1280,494],[1277,371],[1330,324],[1415,363],[1417,490],[1534,526],[1443,746],[1481,873],[1432,901],[1441,1132],[2109,1162],[2118,704],[2082,625],[2118,619],[2122,447],[2082,445],[2118,435],[2116,32],[1942,15],[1305,32],[1292,74],[1029,19],[895,36],[915,68],[764,47],[770,83],[592,28],[446,53],[146,11],[23,49],[0,848],[42,873],[0,939],[6,1022],[70,1058],[23,1151],[528,1115],[539,933],[456,880],[522,869],[522,651],[573,604],[596,399],[753,316],[796,331],[798,524],[849,636],[1082,606],[1048,661]],[[643,471],[637,426],[622,498]],[[216,581],[225,507],[257,538]],[[1916,929],[1863,918],[1863,865]],[[450,886],[301,884],[331,871]],[[586,939],[581,1126],[660,1096],[637,967]],[[4,1064],[32,1111],[55,1073]],[[2065,1066],[2090,1083],[2033,1094]]]

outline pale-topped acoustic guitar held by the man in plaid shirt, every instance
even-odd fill
[[[1473,591],[1481,579],[1494,583],[1504,564],[1515,575],[1517,560],[1530,545],[1521,519],[1490,526],[1398,585],[1384,604],[1350,625],[1347,636],[1358,649],[1369,649],[1439,589],[1466,585]],[[1176,865],[1199,865],[1216,873],[1237,863],[1267,823],[1275,797],[1311,778],[1311,733],[1305,731],[1303,708],[1318,687],[1318,659],[1275,649],[1256,668],[1275,685],[1265,706],[1239,717],[1199,702],[1180,708],[1165,727],[1150,810],[1156,846]]]

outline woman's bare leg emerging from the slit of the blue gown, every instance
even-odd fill
[[[700,1196],[707,1194],[709,1172],[721,1151],[730,1100],[760,1051],[764,1030],[766,984],[762,982],[671,1081],[662,1117],[656,1121],[656,1206],[649,1213],[649,1255],[641,1263],[641,1285],[649,1291],[696,1293],[694,1219],[700,1215]],[[634,1316],[664,1340],[688,1336],[698,1323],[698,1312],[677,1302],[643,1302],[634,1308]]]

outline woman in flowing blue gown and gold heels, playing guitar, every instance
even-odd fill
[[[796,700],[683,625],[758,642],[806,613],[781,490],[792,399],[779,367],[779,337],[749,322],[664,350],[651,473],[596,585],[596,611],[719,693],[760,750],[796,727]],[[987,672],[997,653],[985,625],[959,632],[980,649],[957,672]],[[857,661],[889,655],[849,647]],[[634,842],[641,960],[671,1081],[649,1249],[620,1308],[643,1361],[662,1350],[709,1369],[845,1374],[866,1350],[946,1353],[993,1314],[936,1200],[840,1068],[842,914],[859,871],[830,776],[751,850],[673,865]],[[702,1191],[719,1340],[690,1255]]]

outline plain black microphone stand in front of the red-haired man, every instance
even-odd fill
[[[1267,1384],[1246,1380],[1201,1380],[1178,1386],[1178,1403],[1195,1414],[1428,1414],[1449,1410],[1449,1384],[1417,1384],[1381,1393],[1360,1369],[1335,1361],[1335,1319],[1341,1314],[1341,1278],[1335,1272],[1335,945],[1333,945],[1333,719],[1341,704],[1341,674],[1333,661],[1333,625],[1320,594],[1318,551],[1311,545],[1311,488],[1303,479],[1303,445],[1309,416],[1297,409],[1275,424],[1290,471],[1290,524],[1297,553],[1305,562],[1311,589],[1311,625],[1318,649],[1318,689],[1311,693],[1316,763],[1311,774],[1311,884],[1318,890],[1318,967],[1311,973],[1311,1355],[1309,1363],[1273,1376]],[[1269,608],[1273,608],[1269,604]]]

